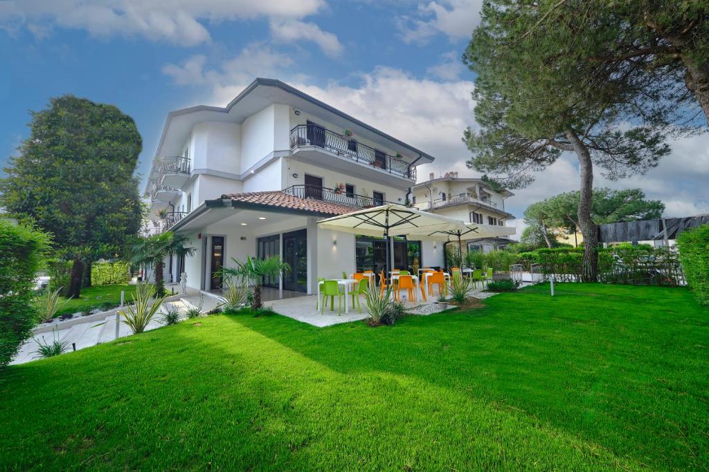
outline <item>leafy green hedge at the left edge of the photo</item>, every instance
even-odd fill
[[[37,322],[31,301],[49,243],[47,234],[0,219],[0,367]]]

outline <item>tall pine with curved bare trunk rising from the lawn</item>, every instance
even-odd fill
[[[616,71],[579,59],[576,19],[558,15],[566,3],[486,1],[464,54],[477,74],[473,98],[479,123],[464,139],[474,154],[468,166],[508,187],[529,184],[535,171],[564,151],[576,156],[584,280],[596,280],[594,168],[609,178],[643,173],[669,154],[664,139],[683,128],[672,121],[672,92],[654,78],[627,85]],[[581,8],[581,2],[568,3]],[[546,21],[551,17],[554,21]]]

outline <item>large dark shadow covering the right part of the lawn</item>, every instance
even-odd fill
[[[698,418],[708,412],[700,384],[684,373],[686,364],[709,367],[686,346],[708,338],[701,310],[682,289],[648,299],[649,287],[603,287],[559,284],[554,299],[535,287],[493,297],[473,314],[408,317],[394,327],[229,319],[340,374],[418,378],[640,463],[694,455],[698,464],[707,445]]]

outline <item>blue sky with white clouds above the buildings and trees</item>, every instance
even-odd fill
[[[143,135],[147,173],[169,110],[225,105],[256,76],[281,79],[437,156],[419,175],[467,170],[474,76],[461,54],[480,0],[0,1],[0,164],[28,133],[28,110],[74,93],[118,105]],[[709,135],[673,142],[642,188],[667,216],[709,212]],[[563,156],[507,209],[578,188]],[[518,233],[519,234],[519,233]]]

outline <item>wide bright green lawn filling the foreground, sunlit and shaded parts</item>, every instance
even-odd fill
[[[709,311],[557,284],[397,326],[184,321],[0,373],[0,469],[706,469]]]

